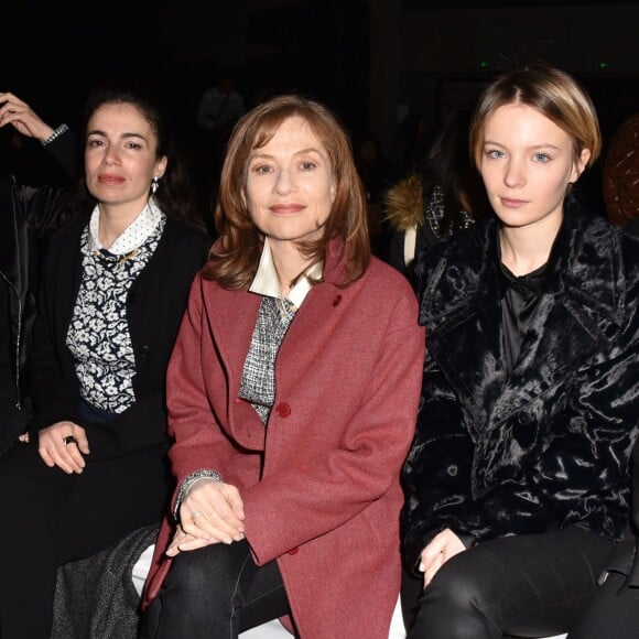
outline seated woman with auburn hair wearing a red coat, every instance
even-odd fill
[[[371,257],[350,142],[316,101],[236,126],[169,370],[177,488],[145,587],[145,636],[386,639],[400,587],[401,465],[423,328]]]

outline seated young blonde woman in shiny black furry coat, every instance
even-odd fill
[[[600,147],[589,97],[546,65],[499,76],[476,106],[495,216],[416,264],[429,342],[403,470],[422,586],[410,639],[566,632],[622,537],[639,241],[573,193]]]

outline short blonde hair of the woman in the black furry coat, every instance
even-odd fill
[[[484,89],[470,124],[470,153],[476,166],[481,164],[486,120],[506,105],[531,107],[565,131],[573,141],[575,161],[588,149],[586,167],[599,156],[599,121],[586,90],[567,73],[535,63],[499,75]]]

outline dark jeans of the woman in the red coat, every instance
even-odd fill
[[[290,614],[275,561],[258,566],[246,540],[180,553],[149,606],[148,639],[235,639]]]

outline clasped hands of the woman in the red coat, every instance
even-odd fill
[[[201,479],[180,507],[180,526],[166,550],[169,556],[212,543],[232,543],[245,537],[239,490],[230,484]]]

